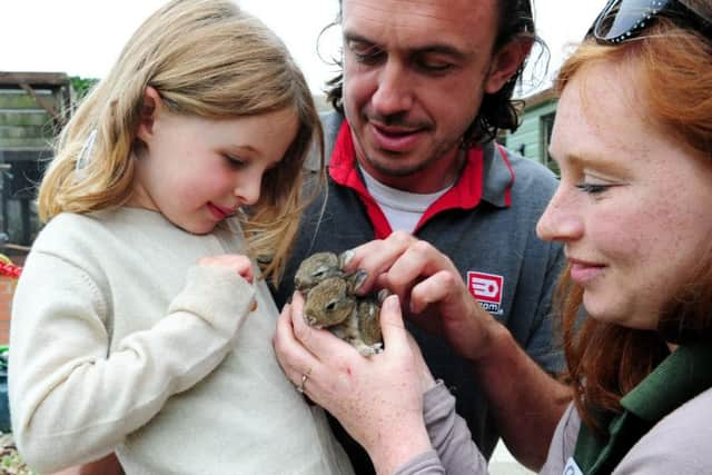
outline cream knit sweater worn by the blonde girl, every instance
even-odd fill
[[[10,337],[12,429],[30,466],[116,451],[127,474],[350,473],[276,363],[265,283],[195,265],[239,253],[236,226],[196,236],[137,208],[48,224]]]

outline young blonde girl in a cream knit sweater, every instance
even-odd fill
[[[11,335],[29,465],[116,451],[128,474],[350,471],[275,360],[261,280],[295,236],[315,138],[294,60],[231,2],[171,1],[138,29],[40,186]]]

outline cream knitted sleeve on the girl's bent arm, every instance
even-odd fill
[[[61,257],[31,254],[13,300],[9,374],[27,463],[55,472],[111,452],[222,360],[254,294],[233,270],[196,266],[162,318],[109,352],[110,303],[99,285]]]

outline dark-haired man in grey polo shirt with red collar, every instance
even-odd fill
[[[342,0],[340,7],[343,73],[329,91],[338,112],[324,121],[328,190],[303,219],[277,305],[313,253],[385,239],[368,248],[372,260],[386,256],[380,268],[418,246],[392,231],[431,243],[459,271],[451,295],[479,301],[466,308],[488,344],[462,357],[469,349],[457,348],[452,335],[443,340],[409,329],[434,375],[454,388],[483,454],[501,434],[520,462],[538,468],[568,400],[545,373],[563,369],[550,318],[561,249],[534,235],[556,184],[543,167],[492,141],[498,128],[517,123],[510,99],[535,39],[531,3]],[[439,269],[425,266],[418,278]],[[334,426],[355,472],[373,471]]]

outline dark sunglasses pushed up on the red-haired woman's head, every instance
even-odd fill
[[[610,0],[586,38],[599,43],[616,44],[637,37],[656,18],[665,17],[682,28],[691,28],[712,39],[710,12],[700,11],[690,0]]]

